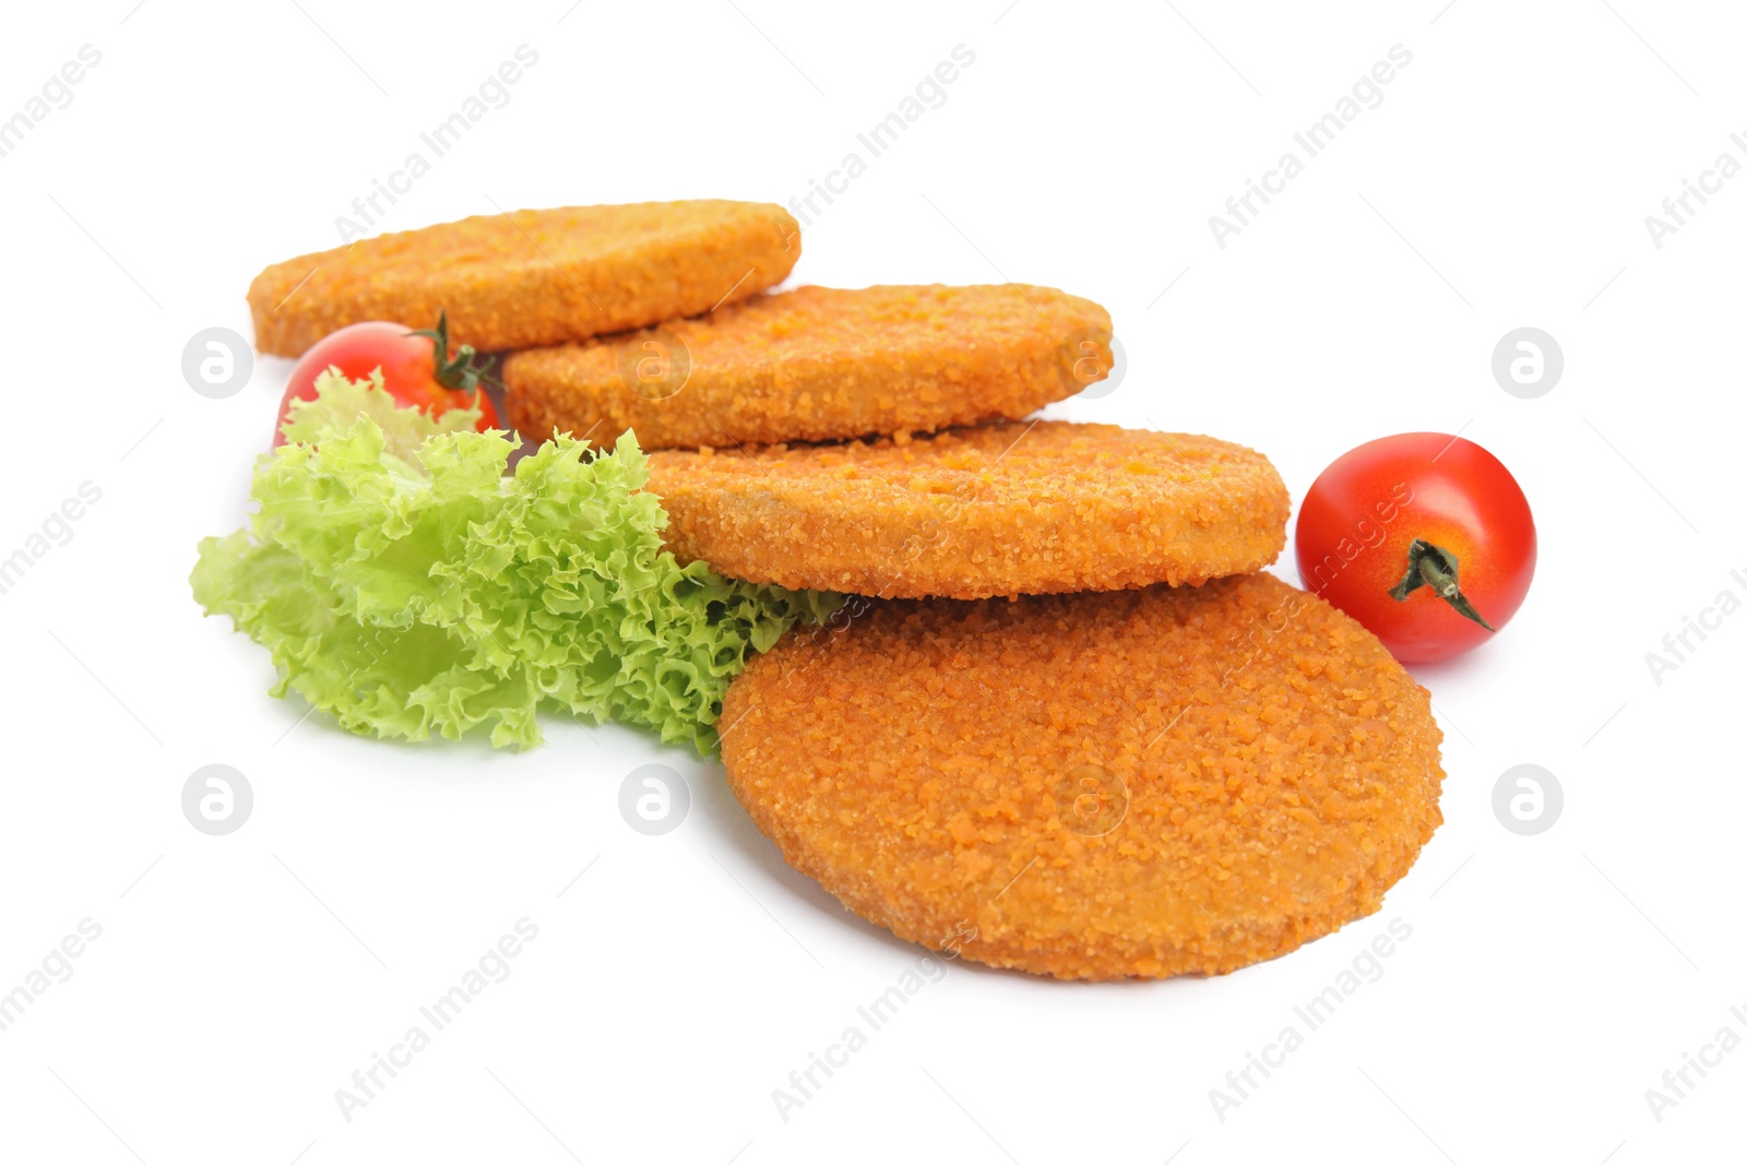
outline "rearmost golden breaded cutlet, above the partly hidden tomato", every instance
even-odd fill
[[[800,227],[772,203],[631,203],[479,215],[273,264],[248,288],[255,348],[297,356],[362,320],[449,313],[480,351],[561,344],[735,302],[788,278]]]

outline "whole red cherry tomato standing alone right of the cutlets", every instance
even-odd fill
[[[1401,662],[1460,655],[1534,578],[1529,500],[1471,440],[1399,433],[1340,456],[1298,508],[1298,576]]]

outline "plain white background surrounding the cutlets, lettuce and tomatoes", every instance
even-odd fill
[[[1738,1160],[1747,1050],[1660,1123],[1644,1092],[1719,1027],[1747,1036],[1747,615],[1661,685],[1644,655],[1719,590],[1747,597],[1747,178],[1660,250],[1644,217],[1719,152],[1747,162],[1747,30],[1726,5],[1440,2],[9,12],[0,115],[80,45],[103,59],[0,157],[0,555],[80,482],[101,501],[0,596],[0,990],[80,919],[103,929],[0,1032],[0,1156]],[[381,227],[786,201],[963,44],[945,105],[805,231],[798,281],[1094,297],[1127,379],[1052,412],[1253,445],[1295,498],[1405,430],[1460,430],[1515,472],[1534,590],[1495,643],[1419,671],[1447,823],[1380,915],[1218,980],[954,964],[784,1123],[772,1088],[919,952],[786,870],[715,763],[552,718],[526,755],[388,746],[266,695],[266,653],[185,578],[243,519],[287,363],[215,402],[182,348],[248,334],[250,278],[332,246],[521,44],[540,61],[512,101]],[[1384,103],[1216,246],[1207,217],[1396,44],[1413,59]],[[1488,369],[1522,325],[1565,353],[1539,400]],[[615,800],[653,760],[694,803],[650,838]],[[255,789],[222,838],[178,800],[213,762]],[[1490,809],[1523,762],[1565,789],[1527,838]],[[522,917],[540,934],[510,978],[342,1120],[335,1088]],[[1412,938],[1384,976],[1221,1121],[1209,1090],[1396,917]]]

